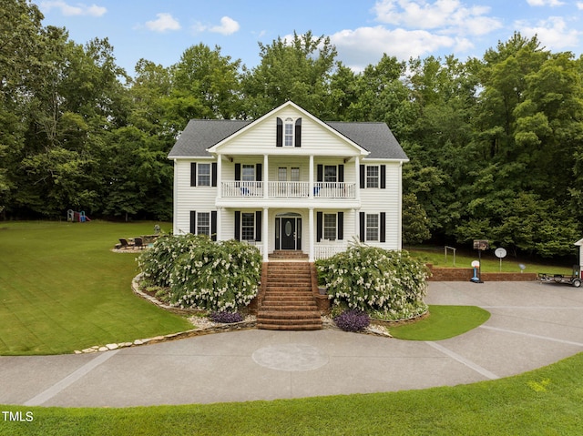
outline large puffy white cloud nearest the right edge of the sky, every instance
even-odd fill
[[[564,50],[578,46],[579,36],[583,35],[583,32],[569,29],[565,19],[560,16],[549,16],[535,26],[527,25],[524,21],[517,21],[515,26],[522,35],[528,37],[537,35],[538,41],[551,50]]]

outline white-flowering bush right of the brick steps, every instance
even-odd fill
[[[316,267],[333,305],[377,319],[409,319],[427,310],[427,269],[407,251],[353,245]]]

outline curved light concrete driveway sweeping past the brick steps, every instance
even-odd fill
[[[126,407],[274,400],[496,380],[583,351],[583,291],[431,282],[429,304],[476,305],[481,327],[405,341],[335,330],[244,330],[97,354],[0,357],[0,404]]]

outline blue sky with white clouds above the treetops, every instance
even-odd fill
[[[170,66],[189,46],[220,46],[248,67],[293,32],[327,35],[354,70],[386,53],[399,59],[481,57],[515,30],[552,51],[583,53],[583,0],[35,0],[44,25],[65,26],[78,44],[108,37],[130,75],[140,58]]]

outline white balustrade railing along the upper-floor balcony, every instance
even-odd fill
[[[267,189],[267,195],[265,192]],[[311,195],[312,194],[312,195]],[[344,182],[222,182],[221,198],[356,198],[356,184]]]

